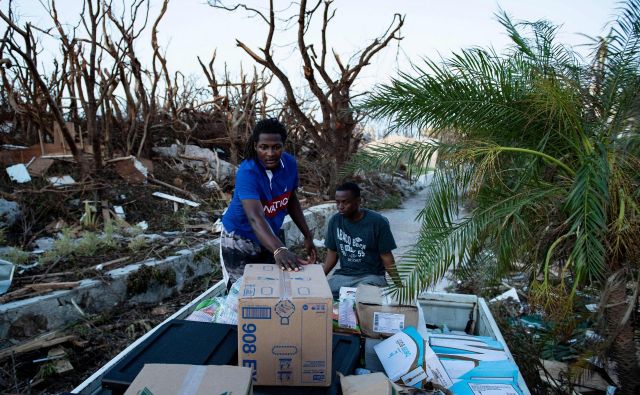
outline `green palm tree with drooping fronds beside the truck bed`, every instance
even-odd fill
[[[381,146],[348,168],[403,160],[425,172],[438,153],[421,234],[393,292],[414,297],[454,268],[495,278],[525,268],[532,300],[561,320],[577,291],[598,286],[622,393],[640,393],[640,0],[594,40],[591,61],[557,44],[548,22],[498,19],[513,43],[505,54],[425,60],[365,104],[397,128],[449,141]]]

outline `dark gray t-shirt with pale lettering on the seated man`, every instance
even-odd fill
[[[336,274],[384,274],[380,254],[396,248],[389,220],[375,211],[361,210],[364,216],[356,222],[340,214],[329,220],[324,245],[338,253],[340,269]]]

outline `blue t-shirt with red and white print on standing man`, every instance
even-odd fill
[[[236,173],[236,188],[222,217],[222,225],[227,232],[259,243],[242,208],[242,200],[254,199],[260,201],[267,223],[273,233],[278,234],[287,215],[289,197],[296,188],[298,166],[295,158],[286,152],[280,157],[280,168],[273,171],[265,169],[257,159],[243,160]]]

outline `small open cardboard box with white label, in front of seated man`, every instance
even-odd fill
[[[384,288],[372,285],[358,286],[356,312],[362,334],[380,339],[392,336],[408,326],[417,327],[418,308],[415,303],[401,304],[390,295],[384,296],[383,292]]]

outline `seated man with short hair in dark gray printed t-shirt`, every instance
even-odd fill
[[[391,252],[396,242],[389,221],[375,211],[361,208],[360,203],[358,185],[347,182],[336,189],[338,214],[329,220],[324,263],[328,274],[340,259],[340,268],[329,278],[334,298],[341,287],[386,286],[385,271],[396,285],[401,283]]]

